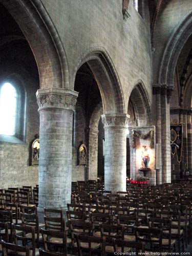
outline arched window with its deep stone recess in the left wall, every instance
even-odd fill
[[[22,79],[12,74],[0,84],[0,141],[24,143],[26,91]]]

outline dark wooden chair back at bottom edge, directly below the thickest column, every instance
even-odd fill
[[[46,251],[59,251],[62,252],[63,255],[67,255],[67,234],[65,231],[54,231],[41,228],[41,233]]]

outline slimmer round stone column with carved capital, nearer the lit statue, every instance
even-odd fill
[[[126,129],[128,115],[104,114],[105,190],[126,191]]]

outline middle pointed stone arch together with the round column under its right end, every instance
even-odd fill
[[[102,47],[92,48],[84,54],[78,61],[76,72],[83,63],[88,63],[102,99],[104,113],[102,122],[105,131],[105,190],[125,191],[127,115],[118,74],[110,56]]]

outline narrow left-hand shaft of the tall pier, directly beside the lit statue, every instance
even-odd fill
[[[160,145],[159,169],[156,169],[157,185],[162,184],[162,163],[161,163],[161,84],[153,85],[153,94],[156,104],[156,143]],[[156,156],[157,157],[157,156]]]

